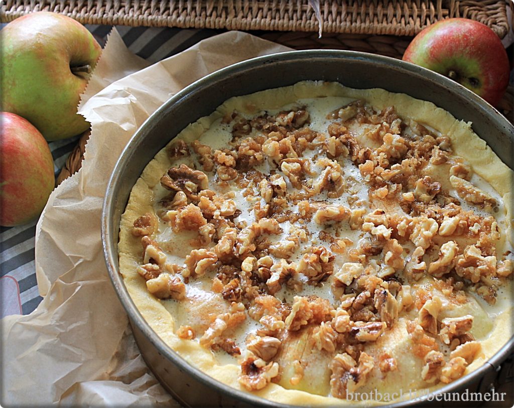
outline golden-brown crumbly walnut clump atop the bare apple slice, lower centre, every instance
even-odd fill
[[[299,330],[309,323],[321,323],[331,318],[331,306],[318,296],[295,296],[291,313],[285,320],[286,329]]]

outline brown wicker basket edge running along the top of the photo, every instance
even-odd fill
[[[54,11],[83,24],[228,30],[318,31],[308,0],[7,0],[0,19]],[[443,18],[478,20],[503,38],[505,0],[321,0],[325,33],[415,35]]]

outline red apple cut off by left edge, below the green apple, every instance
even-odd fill
[[[0,112],[0,225],[25,224],[43,211],[53,190],[53,159],[29,121]]]

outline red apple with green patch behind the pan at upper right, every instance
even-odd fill
[[[417,34],[403,61],[431,69],[496,105],[509,82],[509,60],[498,36],[467,18],[441,20]]]

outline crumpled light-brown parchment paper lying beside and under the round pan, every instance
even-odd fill
[[[79,105],[92,129],[82,168],[53,191],[36,230],[44,299],[31,314],[1,322],[4,404],[178,406],[142,360],[108,278],[100,236],[107,181],[137,128],[177,91],[227,65],[287,50],[230,31],[144,68],[116,30],[109,36]]]

